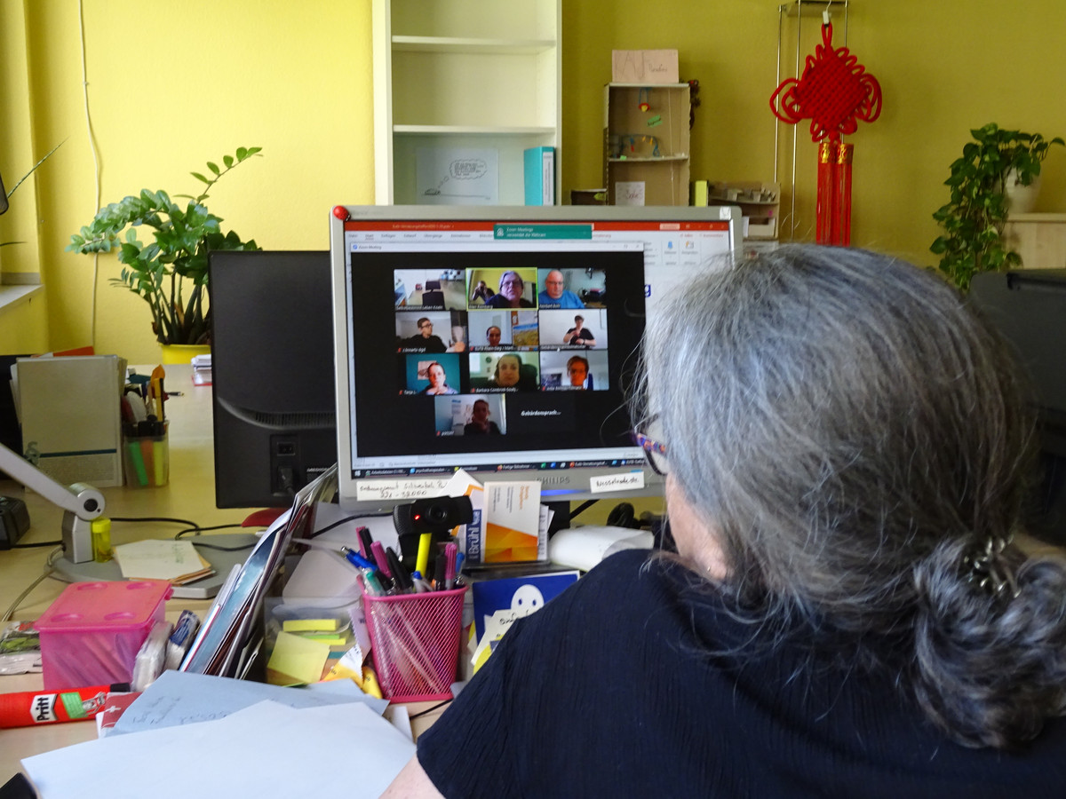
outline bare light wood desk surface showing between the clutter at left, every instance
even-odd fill
[[[138,370],[143,371],[141,369]],[[172,517],[196,522],[200,526],[239,524],[248,515],[244,508],[220,509],[214,506],[214,456],[211,422],[211,388],[194,386],[192,368],[167,365],[166,385],[181,396],[166,403],[169,419],[171,482],[161,488],[103,488],[108,517]],[[18,483],[0,480],[0,493],[21,496],[30,511],[30,529],[19,541],[35,543],[58,541],[63,512],[37,494],[25,491]],[[180,525],[159,522],[115,522],[112,543],[127,543],[143,538],[171,538]],[[0,552],[0,614],[41,575],[52,547],[14,549]],[[66,587],[53,577],[45,578],[15,609],[19,621],[39,617]],[[166,615],[175,621],[182,608],[200,616],[208,600],[171,600]],[[41,674],[0,676],[0,692],[37,690]],[[20,769],[19,760],[69,744],[96,737],[91,721],[46,724],[35,728],[0,730],[0,784]]]

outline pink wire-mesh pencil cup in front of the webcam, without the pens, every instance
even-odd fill
[[[451,699],[466,586],[449,591],[362,594],[382,694],[393,702]]]

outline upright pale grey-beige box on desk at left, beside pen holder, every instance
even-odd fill
[[[120,486],[126,361],[116,355],[19,358],[13,372],[22,455],[64,486]]]

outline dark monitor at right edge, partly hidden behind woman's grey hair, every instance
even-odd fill
[[[1041,467],[1033,532],[1066,544],[1066,270],[980,273],[969,296],[1014,347],[1031,380]]]

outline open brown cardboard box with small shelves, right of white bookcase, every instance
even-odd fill
[[[646,206],[689,205],[688,83],[608,83],[603,88],[603,181],[608,205],[618,183],[643,184]]]

